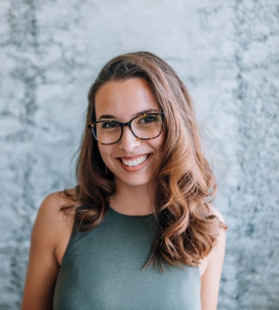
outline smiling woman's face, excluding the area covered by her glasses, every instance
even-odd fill
[[[95,112],[96,120],[126,123],[135,116],[160,112],[160,109],[147,82],[133,77],[106,82],[95,96]],[[125,126],[119,142],[98,145],[101,158],[113,173],[117,187],[135,187],[150,183],[156,185],[163,141],[163,132],[152,140],[140,140]]]

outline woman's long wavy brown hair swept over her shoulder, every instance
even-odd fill
[[[77,195],[71,196],[78,204],[87,205],[77,208],[78,223],[87,223],[79,228],[94,228],[102,221],[109,209],[109,197],[115,191],[113,175],[106,174],[98,144],[87,129],[87,123],[95,120],[95,95],[106,82],[130,77],[147,81],[159,108],[166,114],[166,142],[156,193],[158,231],[145,266],[161,266],[162,262],[197,266],[213,248],[219,227],[225,227],[209,205],[216,193],[216,181],[202,154],[189,92],[168,63],[147,51],[113,58],[89,90],[85,132],[77,161]]]

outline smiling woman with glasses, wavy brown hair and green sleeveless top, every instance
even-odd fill
[[[226,226],[185,85],[140,51],[88,99],[78,185],[39,209],[22,309],[216,309]]]

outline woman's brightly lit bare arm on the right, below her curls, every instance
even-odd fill
[[[223,216],[218,211],[214,213],[224,222]],[[225,229],[220,228],[215,247],[206,258],[206,269],[202,275],[201,300],[202,310],[216,310],[218,292],[225,257]]]

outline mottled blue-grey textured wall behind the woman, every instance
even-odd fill
[[[147,49],[197,105],[229,225],[218,309],[279,309],[275,0],[1,0],[0,309],[19,309],[43,197],[74,184],[89,85]]]

